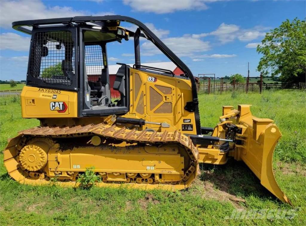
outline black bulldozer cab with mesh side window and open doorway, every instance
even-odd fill
[[[120,98],[112,100],[106,44],[129,40],[129,33],[110,28],[86,24],[33,28],[27,85],[77,91],[80,116],[127,112],[128,66],[122,64],[116,74],[112,88]],[[88,74],[96,81],[89,81]]]

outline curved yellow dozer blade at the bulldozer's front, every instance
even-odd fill
[[[238,105],[239,114],[235,117],[236,123],[234,121],[233,123],[241,128],[241,134],[237,134],[236,139],[242,142],[239,145],[235,145],[235,150],[231,155],[237,160],[244,161],[259,178],[260,183],[278,199],[292,205],[290,200],[279,188],[272,168],[274,148],[278,140],[282,137],[282,133],[273,124],[273,120],[254,117],[251,114],[250,106]],[[236,113],[237,110],[226,113],[230,114],[233,112]]]

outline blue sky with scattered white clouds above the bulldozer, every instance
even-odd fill
[[[80,15],[130,16],[145,23],[190,68],[194,76],[250,76],[260,54],[256,46],[266,32],[286,19],[304,20],[305,1],[123,0],[0,1],[0,78],[25,80],[30,36],[15,31],[17,20]],[[134,29],[131,24],[123,26]],[[140,40],[141,63],[169,61],[150,41]],[[110,43],[109,64],[132,64],[133,41]]]

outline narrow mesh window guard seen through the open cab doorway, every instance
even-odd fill
[[[85,66],[88,79],[97,81],[102,74],[103,55],[99,45],[85,46]]]

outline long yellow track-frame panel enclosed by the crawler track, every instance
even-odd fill
[[[116,158],[114,158],[116,156]],[[82,172],[95,167],[95,172],[122,174],[155,173],[161,174],[159,181],[181,180],[184,175],[184,158],[177,146],[127,146],[127,147],[78,147],[58,152],[57,148],[48,152],[47,175],[54,176],[54,171]],[[171,172],[168,175],[166,172]],[[168,175],[168,177],[166,176]],[[176,177],[176,175],[178,177]],[[113,178],[109,179],[110,181]]]

